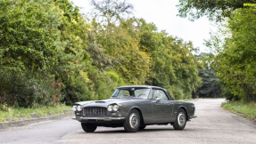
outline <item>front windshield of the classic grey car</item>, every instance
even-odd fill
[[[117,89],[113,94],[112,98],[126,98],[126,97],[136,97],[136,98],[143,98],[148,99],[150,95],[149,88],[131,88],[131,89]]]

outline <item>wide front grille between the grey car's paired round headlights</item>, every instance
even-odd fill
[[[83,109],[84,116],[107,116],[107,108],[88,107]]]

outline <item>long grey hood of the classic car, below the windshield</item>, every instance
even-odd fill
[[[121,104],[128,101],[133,100],[143,100],[143,99],[136,99],[136,98],[117,98],[117,99],[107,99],[107,100],[90,100],[90,101],[81,101],[76,102],[75,104],[81,105],[83,107],[108,107],[111,104]]]

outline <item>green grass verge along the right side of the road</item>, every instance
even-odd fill
[[[240,116],[256,120],[256,103],[229,101],[222,103],[221,107]]]

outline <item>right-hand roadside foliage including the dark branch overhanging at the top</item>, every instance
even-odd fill
[[[244,5],[255,3],[180,0],[178,6],[182,17],[198,19],[206,15],[210,20],[226,20],[221,24],[221,36],[212,36],[207,44],[216,48],[212,66],[228,100],[256,101],[256,9]]]

